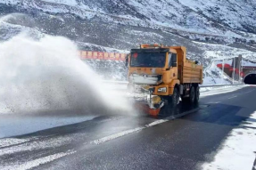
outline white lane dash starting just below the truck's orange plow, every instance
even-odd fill
[[[153,125],[160,125],[164,122],[168,122],[169,119],[161,119],[161,120],[156,120],[154,121],[153,123],[150,123],[148,125],[144,125],[144,126],[140,126],[140,127],[136,127],[134,129],[130,129],[130,130],[127,130],[127,131],[123,131],[123,132],[120,132],[118,134],[111,134],[109,136],[106,136],[106,137],[103,137],[101,139],[98,139],[98,140],[95,140],[91,143],[95,143],[95,144],[101,144],[103,142],[108,142],[108,141],[111,141],[111,140],[114,140],[114,139],[117,139],[117,138],[120,138],[122,136],[125,136],[125,135],[128,135],[128,134],[133,134],[133,133],[136,133],[138,131],[141,131],[145,128],[148,128],[148,127],[151,127]]]

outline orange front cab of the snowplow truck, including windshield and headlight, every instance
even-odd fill
[[[176,50],[169,48],[132,49],[128,81],[136,85],[156,87],[153,94],[169,95],[171,84],[178,79]]]

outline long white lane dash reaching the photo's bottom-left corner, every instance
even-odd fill
[[[64,156],[73,154],[75,152],[76,151],[70,150],[70,151],[67,151],[67,152],[56,153],[54,155],[50,155],[50,156],[47,156],[47,157],[44,157],[44,158],[37,158],[35,160],[28,161],[24,164],[14,164],[14,165],[8,165],[8,166],[0,166],[0,169],[1,170],[9,170],[9,169],[28,170],[28,169],[31,169],[31,168],[34,168],[34,167],[52,162],[52,161],[54,161],[58,158],[62,158]]]

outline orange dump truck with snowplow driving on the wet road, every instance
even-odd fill
[[[148,92],[149,114],[157,116],[166,105],[176,107],[179,98],[199,101],[202,66],[186,59],[186,47],[140,45],[128,57],[128,86]]]

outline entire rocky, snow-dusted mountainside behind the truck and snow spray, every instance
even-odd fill
[[[254,0],[1,0],[0,40],[26,31],[85,50],[159,43],[184,45],[204,65],[238,54],[256,61],[255,11]]]

